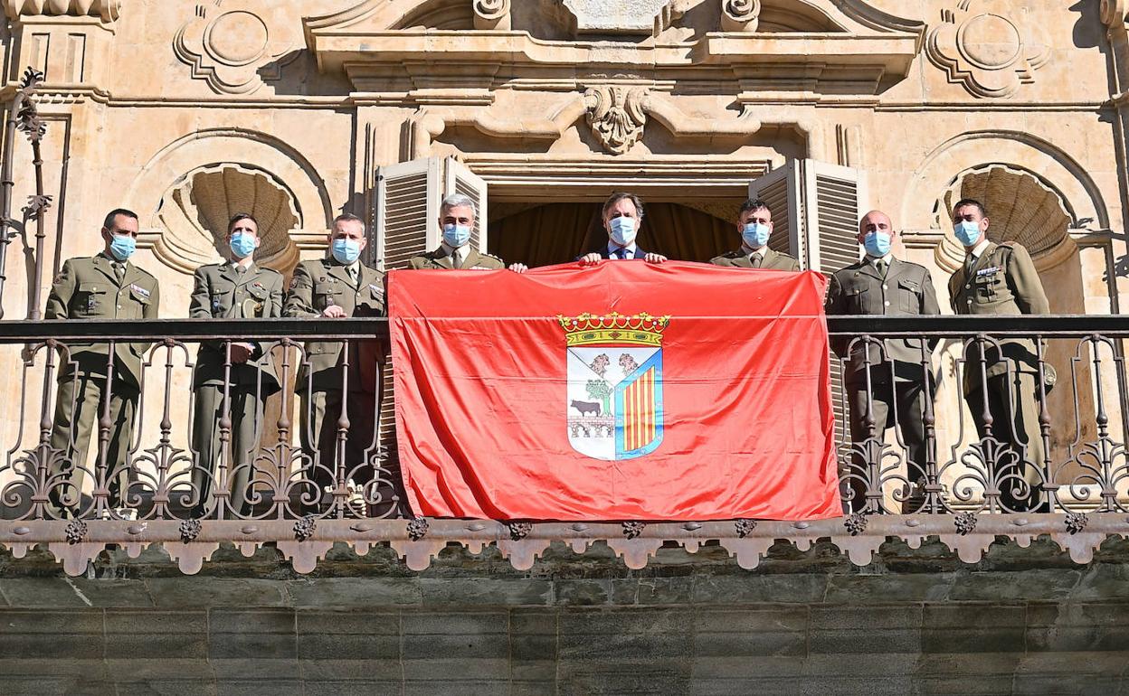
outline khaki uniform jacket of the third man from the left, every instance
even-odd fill
[[[358,282],[353,284],[349,277],[348,266],[332,258],[304,261],[298,264],[290,281],[290,292],[287,294],[282,316],[321,317],[322,311],[331,305],[341,307],[350,317],[384,316],[384,274],[358,262]],[[341,389],[341,371],[335,368],[341,363],[343,345],[340,341],[307,343],[306,360],[309,364],[304,364],[298,371],[296,389],[299,393],[306,391],[310,376],[315,391]],[[366,368],[361,363],[373,358],[374,353],[370,351],[359,354],[358,350],[350,349],[351,365]],[[350,391],[369,391],[375,388],[375,385],[368,384],[371,377],[364,378],[365,375],[376,373],[376,365],[370,367],[374,368],[373,371],[362,370],[361,378],[356,378],[353,372],[350,373]]]

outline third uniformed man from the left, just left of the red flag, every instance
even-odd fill
[[[304,261],[295,268],[282,316],[325,319],[383,316],[384,274],[360,261],[368,243],[365,223],[357,215],[339,215],[329,243],[329,256]],[[348,370],[344,369],[347,345]],[[310,458],[313,468],[308,478],[316,484],[318,499],[335,481],[334,467],[340,459],[338,421],[343,405],[349,419],[344,479],[364,484],[371,478],[373,468],[366,457],[371,457],[376,446],[379,375],[368,347],[358,341],[306,344],[306,360],[298,371],[295,390],[304,400],[300,439]],[[366,350],[365,355],[361,350]]]

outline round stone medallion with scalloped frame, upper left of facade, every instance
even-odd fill
[[[250,94],[277,80],[297,58],[291,37],[263,20],[263,0],[219,0],[198,5],[195,16],[173,39],[173,50],[216,92]],[[287,54],[291,54],[286,59]]]

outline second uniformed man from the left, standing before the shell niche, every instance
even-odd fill
[[[227,226],[230,261],[196,268],[190,317],[282,316],[282,274],[255,264],[259,245],[259,222],[247,213],[231,218]],[[245,514],[250,506],[247,483],[252,479],[259,438],[263,432],[263,402],[279,390],[271,347],[270,343],[233,341],[228,361],[224,341],[200,344],[192,378],[195,388],[192,448],[200,458],[192,469],[193,490],[199,496],[198,516],[213,506],[209,493],[219,477],[220,419],[225,413],[230,420],[230,455],[226,461],[231,509],[236,514]]]

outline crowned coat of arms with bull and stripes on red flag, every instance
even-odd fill
[[[663,443],[663,332],[671,317],[558,316],[568,360],[568,439],[572,449],[614,461]]]

